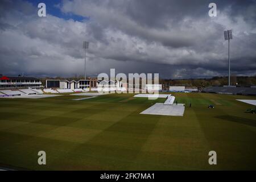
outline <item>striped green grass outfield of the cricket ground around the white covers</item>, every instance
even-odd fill
[[[174,93],[183,117],[144,115],[134,94],[0,99],[0,166],[64,170],[256,169],[256,97]],[[215,109],[208,109],[213,104]],[[38,151],[47,165],[39,166]],[[217,152],[210,166],[208,152]]]

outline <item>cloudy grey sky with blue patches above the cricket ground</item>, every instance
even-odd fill
[[[46,17],[38,3],[46,3]],[[217,17],[208,15],[209,3]],[[0,74],[159,73],[196,78],[256,75],[256,2],[185,0],[0,1]]]

